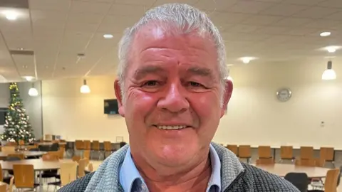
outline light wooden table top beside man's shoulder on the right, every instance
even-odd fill
[[[253,166],[257,166],[253,164]],[[306,173],[309,178],[323,178],[326,177],[326,172],[330,169],[323,167],[311,166],[295,166],[294,164],[275,164],[275,165],[258,165],[259,169],[267,171],[271,174],[284,177],[290,172]]]

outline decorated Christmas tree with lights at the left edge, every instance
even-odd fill
[[[16,82],[10,83],[9,90],[11,92],[11,101],[9,111],[5,117],[4,134],[1,139],[7,142],[18,143],[19,140],[24,140],[25,143],[31,143],[34,140],[34,135]]]

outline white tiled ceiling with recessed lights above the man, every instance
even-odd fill
[[[342,46],[341,0],[1,0],[0,75],[19,81],[115,74],[123,30],[170,2],[207,12],[222,33],[229,65],[243,56],[259,58],[255,63],[342,56],[342,50],[320,50]],[[7,10],[19,14],[16,21],[6,19]],[[331,36],[319,36],[323,31]],[[107,33],[113,38],[103,38]]]

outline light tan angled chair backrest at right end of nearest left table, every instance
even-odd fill
[[[61,174],[61,186],[66,186],[77,178],[77,163],[62,163],[59,173]]]

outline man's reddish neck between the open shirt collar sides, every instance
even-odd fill
[[[133,159],[149,191],[205,191],[212,174],[209,151],[196,164],[177,168],[150,166],[139,157]]]

